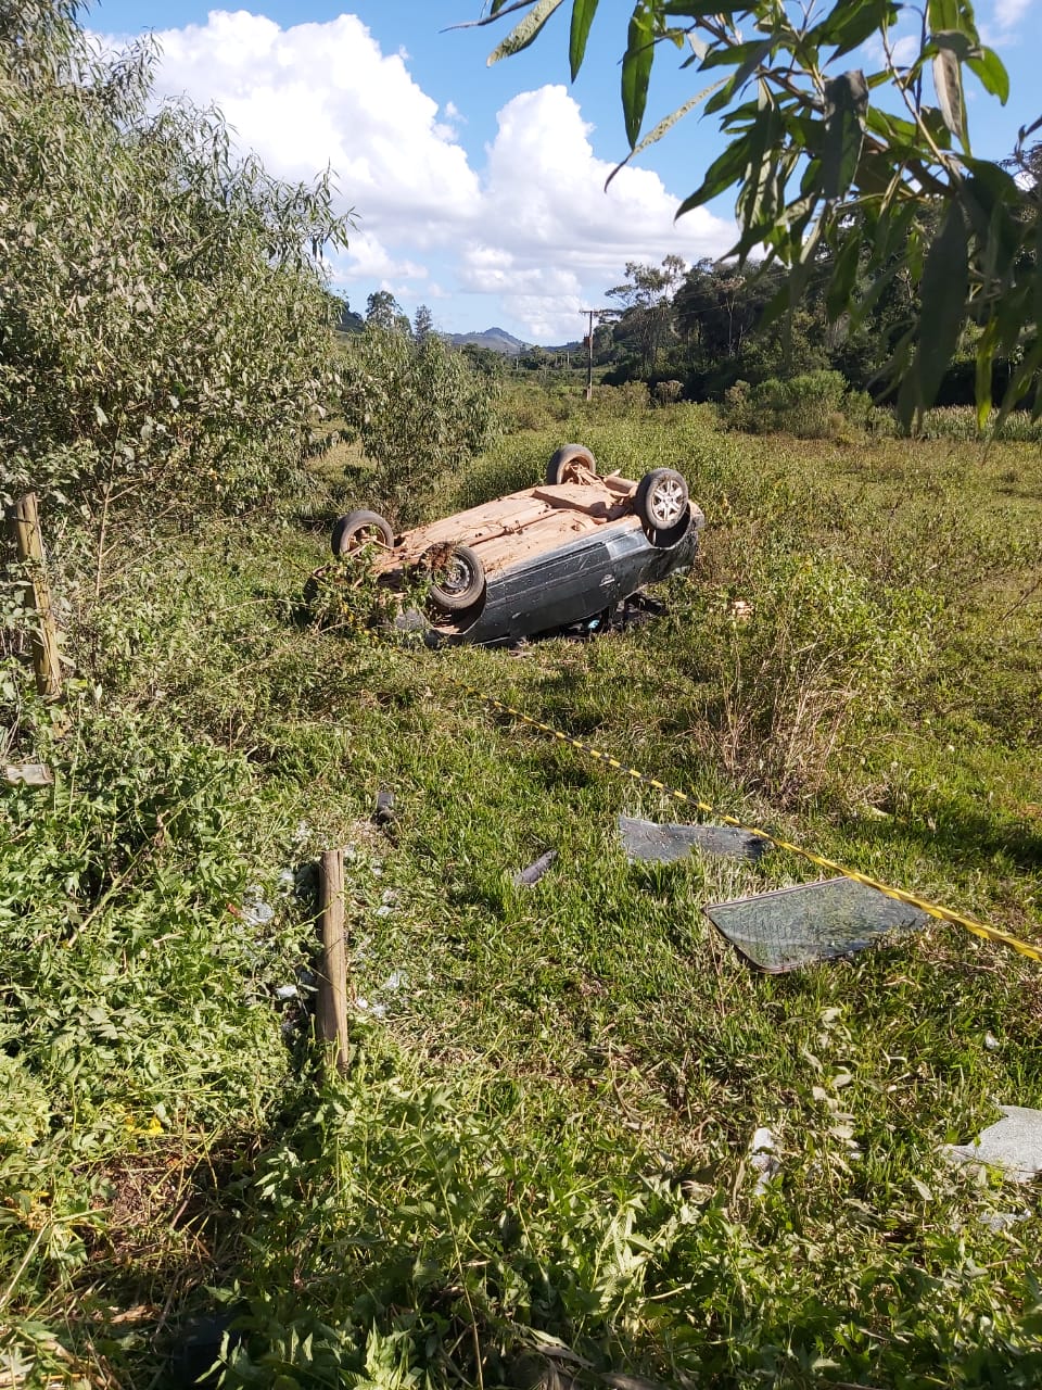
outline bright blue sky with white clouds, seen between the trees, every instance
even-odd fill
[[[333,288],[354,309],[389,289],[449,332],[497,324],[552,343],[581,335],[579,309],[603,304],[627,261],[692,263],[732,234],[727,200],[672,220],[720,149],[713,118],[688,117],[604,192],[627,149],[618,57],[631,6],[600,8],[574,85],[567,4],[532,49],[490,68],[506,25],[445,32],[479,0],[103,0],[86,22],[115,39],[154,29],[160,90],[220,106],[272,174],[332,167],[357,217]],[[977,17],[1011,95],[1002,108],[970,81],[974,152],[1002,157],[1042,114],[1042,0],[984,0]],[[911,43],[916,24],[909,11],[898,35]],[[679,57],[656,61],[647,128],[697,89]],[[868,68],[873,54],[847,61]]]

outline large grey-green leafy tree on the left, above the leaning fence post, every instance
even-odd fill
[[[333,370],[328,178],[238,161],[217,113],[154,110],[153,50],[76,6],[0,6],[4,495],[232,510],[299,468]]]

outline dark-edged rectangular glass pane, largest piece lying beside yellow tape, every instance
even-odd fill
[[[778,888],[703,910],[742,955],[772,973],[864,951],[891,933],[920,931],[929,920],[853,878]]]

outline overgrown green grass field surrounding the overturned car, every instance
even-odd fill
[[[176,1384],[218,1308],[222,1383],[272,1390],[1042,1382],[1036,1194],[938,1155],[1042,1108],[1042,965],[934,923],[756,973],[703,906],[811,865],[631,866],[617,816],[677,806],[474,694],[1042,942],[1042,455],[574,407],[432,506],[571,439],[707,516],[667,613],[584,644],[308,623],[352,460],[128,546],[100,600],[49,538],[76,667],[69,731],[26,694],[10,739],[56,787],[0,809],[0,1387]],[[301,995],[340,845],[331,1081]]]

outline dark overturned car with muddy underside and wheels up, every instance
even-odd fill
[[[432,637],[508,642],[611,610],[690,566],[704,517],[682,474],[599,474],[589,449],[559,449],[546,482],[396,537],[375,512],[333,525],[333,555],[363,550],[381,584],[422,578]]]

